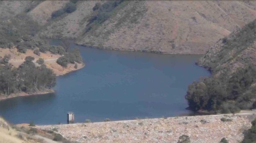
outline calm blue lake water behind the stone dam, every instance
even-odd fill
[[[71,47],[76,45],[72,44]],[[105,118],[131,120],[188,114],[187,87],[209,71],[195,65],[202,55],[167,55],[80,48],[85,67],[57,78],[55,93],[0,101],[11,123],[67,123]]]

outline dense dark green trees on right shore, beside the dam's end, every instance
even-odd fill
[[[230,113],[240,109],[253,108],[256,89],[252,84],[256,82],[256,67],[249,65],[239,68],[231,77],[223,74],[195,81],[189,85],[186,99],[190,109],[200,109]],[[250,90],[249,93],[245,91]]]

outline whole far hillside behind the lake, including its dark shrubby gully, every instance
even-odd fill
[[[52,13],[68,3],[74,3],[75,11],[52,18]],[[31,17],[42,26],[41,37],[75,38],[78,44],[98,48],[173,54],[204,54],[216,41],[256,17],[256,1],[1,1],[0,8],[9,17],[20,13]]]

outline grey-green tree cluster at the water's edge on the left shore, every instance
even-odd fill
[[[44,64],[36,67],[34,58],[27,56],[18,67],[6,63],[0,65],[0,95],[18,92],[37,92],[55,86],[55,74]]]

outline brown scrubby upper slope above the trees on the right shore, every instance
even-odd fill
[[[230,36],[220,39],[198,64],[218,76],[234,73],[238,67],[256,65],[256,19]]]

